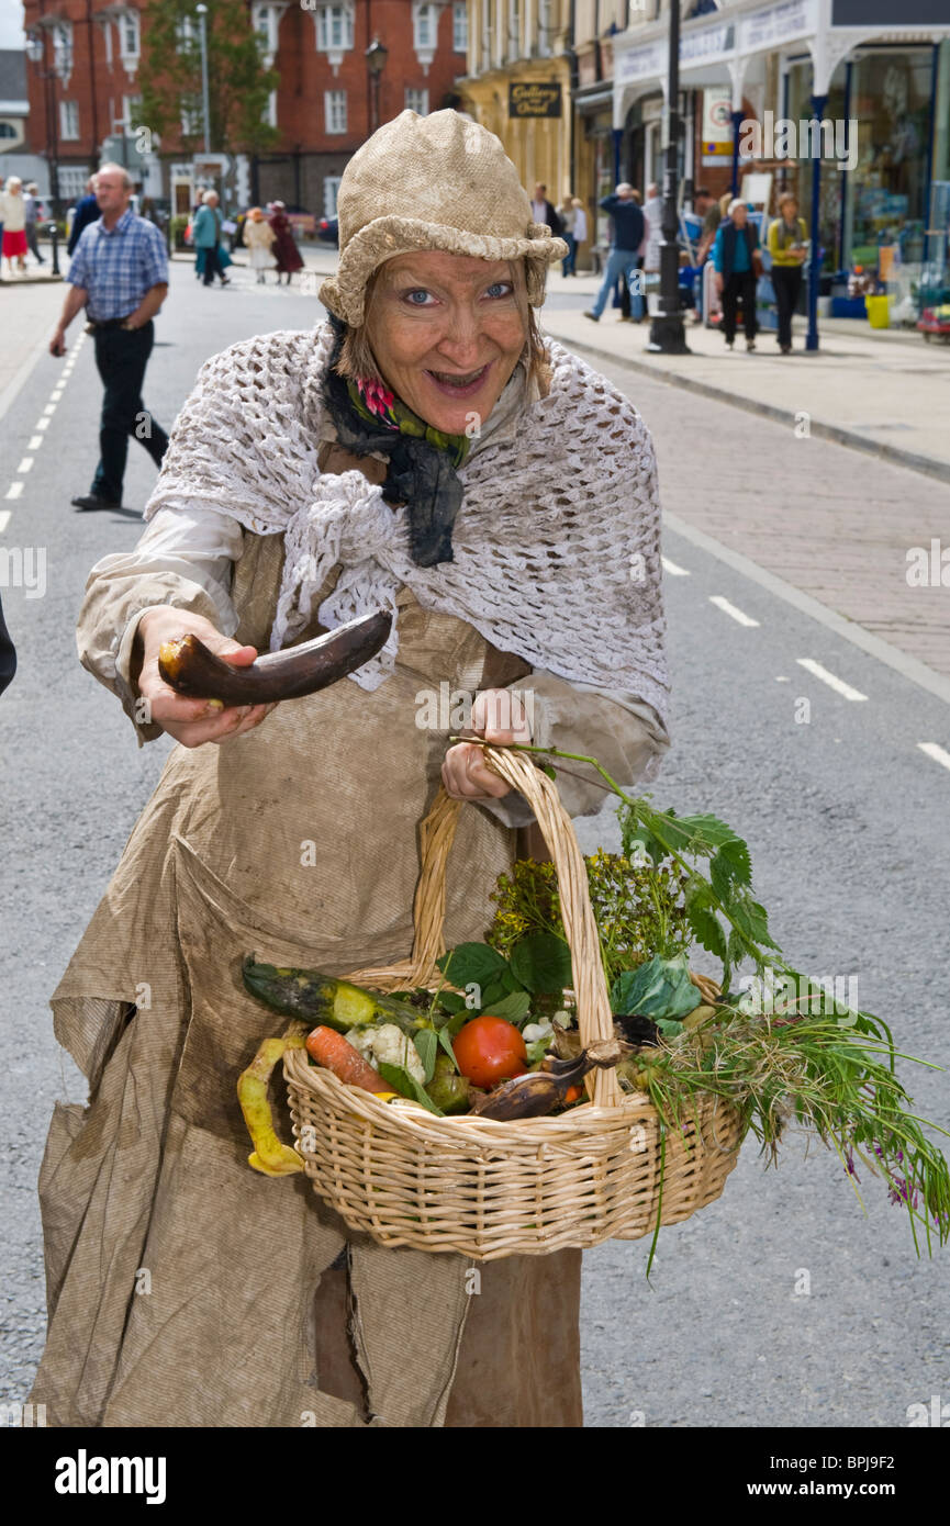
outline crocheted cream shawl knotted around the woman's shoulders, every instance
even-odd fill
[[[283,331],[214,356],[182,409],[150,519],[203,502],[260,536],[286,537],[272,649],[318,620],[389,609],[383,650],[351,678],[374,690],[399,649],[396,595],[457,615],[502,652],[570,682],[623,690],[666,719],[660,504],[649,433],[634,406],[548,339],[553,380],[513,438],[487,439],[460,470],[454,560],[409,557],[405,510],[360,472],[321,476],[321,378],[331,331]],[[510,433],[510,432],[504,432]]]

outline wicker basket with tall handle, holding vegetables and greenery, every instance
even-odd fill
[[[525,754],[486,758],[532,804],[557,871],[574,967],[580,1039],[614,1035],[586,870],[553,781]],[[446,859],[458,801],[440,792],[422,826],[412,958],[348,980],[376,990],[434,986],[444,952]],[[588,1102],[556,1117],[498,1123],[393,1108],[289,1050],[284,1074],[296,1148],[315,1190],[382,1245],[457,1251],[472,1260],[544,1256],[638,1239],[719,1196],[738,1158],[736,1114],[712,1094],[663,1131],[648,1097],[612,1070],[588,1077]]]

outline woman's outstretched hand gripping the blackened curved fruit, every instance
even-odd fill
[[[186,699],[163,681],[159,673],[162,642],[174,641],[189,632],[203,641],[209,652],[232,662],[234,667],[249,667],[257,658],[257,647],[243,647],[229,636],[223,636],[203,615],[194,615],[186,609],[173,609],[170,604],[157,604],[142,615],[137,630],[142,652],[137,688],[148,705],[145,719],[166,731],[183,748],[200,748],[205,742],[229,742],[231,737],[240,737],[246,731],[252,731],[254,726],[260,726],[273,705],[223,708],[220,700]]]

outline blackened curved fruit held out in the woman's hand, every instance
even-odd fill
[[[234,667],[209,652],[192,633],[163,641],[159,673],[188,699],[220,699],[225,705],[270,705],[302,699],[328,688],[374,658],[393,629],[393,615],[377,609],[345,626],[284,652],[267,652],[249,667]]]

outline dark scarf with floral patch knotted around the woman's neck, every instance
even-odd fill
[[[347,382],[336,363],[347,333],[330,316],[336,336],[322,383],[322,397],[336,436],[356,456],[379,450],[388,456],[383,482],[388,502],[405,504],[409,522],[409,554],[417,566],[452,562],[452,525],[461,508],[457,468],[472,441],[466,435],[443,435],[379,382]]]

